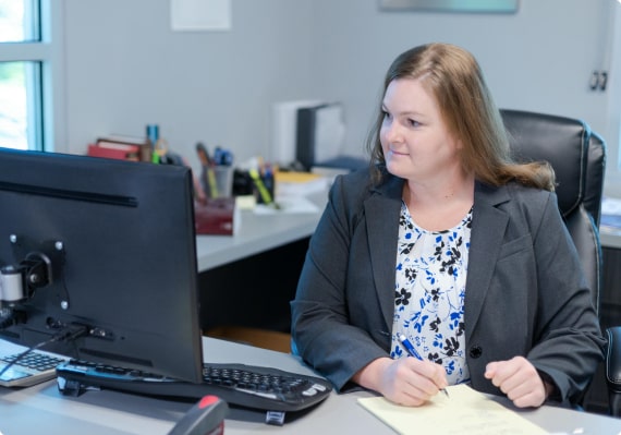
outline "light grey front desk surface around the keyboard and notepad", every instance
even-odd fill
[[[245,345],[205,338],[206,361],[245,362],[312,374],[293,355]],[[391,428],[357,404],[369,392],[332,394],[326,401],[282,427],[242,420],[227,420],[227,435],[278,433],[305,434],[394,434]],[[502,398],[498,398],[507,403]],[[167,401],[117,391],[88,391],[81,397],[62,397],[54,382],[22,390],[0,388],[0,432],[3,435],[127,435],[167,434],[191,403]],[[551,433],[617,435],[621,420],[555,407],[520,411],[527,420]],[[45,428],[45,431],[42,431]],[[574,432],[582,428],[582,432]]]

